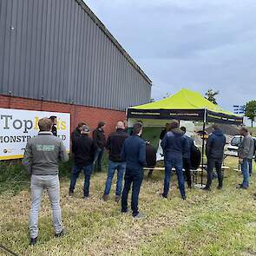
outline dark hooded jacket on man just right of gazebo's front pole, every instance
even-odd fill
[[[213,131],[207,139],[207,158],[222,159],[226,137],[220,129]]]

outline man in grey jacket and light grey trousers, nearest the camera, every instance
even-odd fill
[[[23,165],[31,174],[30,245],[35,246],[38,236],[38,214],[43,188],[47,190],[53,213],[56,237],[64,235],[60,207],[59,161],[68,161],[69,156],[61,139],[50,131],[52,121],[45,117],[38,121],[40,132],[28,141]]]

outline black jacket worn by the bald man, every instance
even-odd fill
[[[124,161],[121,158],[121,148],[127,138],[128,133],[123,129],[117,129],[115,133],[108,136],[106,148],[109,150],[109,160]]]

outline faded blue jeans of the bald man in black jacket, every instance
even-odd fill
[[[111,185],[112,185],[112,180],[115,175],[115,170],[117,170],[115,195],[121,195],[122,179],[123,179],[123,174],[125,173],[125,167],[126,167],[125,161],[121,161],[121,162],[111,161],[111,160],[108,161],[108,178],[106,181],[104,194],[109,194]]]

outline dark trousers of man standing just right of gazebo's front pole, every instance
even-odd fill
[[[207,188],[210,188],[213,181],[213,167],[216,168],[218,175],[219,187],[222,187],[223,175],[222,175],[222,159],[209,158],[207,160]]]

